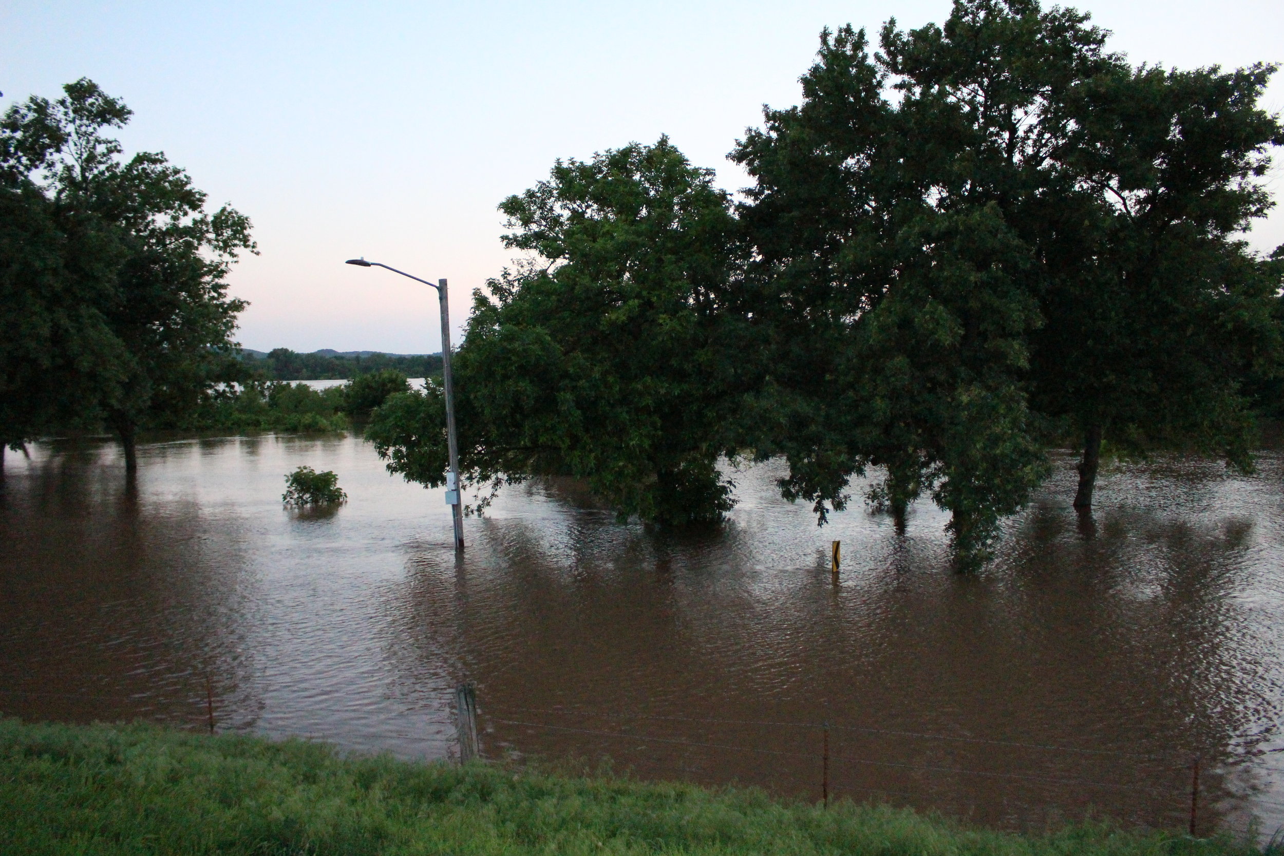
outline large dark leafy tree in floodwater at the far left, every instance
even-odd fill
[[[0,122],[6,199],[23,205],[26,227],[42,230],[39,241],[0,245],[5,300],[30,312],[4,344],[18,357],[0,412],[9,420],[10,394],[42,403],[26,425],[6,421],[9,441],[104,420],[134,471],[140,425],[181,420],[244,371],[230,338],[245,303],[227,296],[225,277],[254,244],[248,218],[229,207],[208,213],[205,194],[164,155],[122,157],[107,133],[130,116],[80,80]]]

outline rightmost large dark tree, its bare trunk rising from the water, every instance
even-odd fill
[[[1258,107],[1272,71],[1118,67],[1067,99],[1080,201],[1036,237],[1052,275],[1032,391],[1082,443],[1076,507],[1093,504],[1103,441],[1252,467],[1243,382],[1274,376],[1281,350],[1284,259],[1242,239],[1274,205],[1263,176],[1284,128]]]

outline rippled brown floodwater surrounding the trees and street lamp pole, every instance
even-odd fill
[[[1284,458],[1120,466],[1091,520],[1072,461],[950,571],[946,517],[860,502],[818,529],[774,463],[727,525],[619,525],[573,485],[465,524],[357,438],[108,441],[5,453],[0,711],[207,724],[448,757],[453,689],[483,751],[648,779],[881,800],[1041,828],[1109,815],[1199,833],[1284,824]],[[334,470],[333,513],[281,506]],[[853,493],[863,492],[860,484]],[[831,539],[842,574],[831,579]]]

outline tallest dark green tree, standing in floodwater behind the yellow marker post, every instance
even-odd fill
[[[1045,471],[1023,386],[1040,271],[1002,204],[1046,186],[1044,144],[1000,118],[1107,62],[1070,13],[1021,23],[927,51],[940,31],[889,23],[878,56],[864,32],[826,32],[802,105],[768,110],[733,155],[756,181],[742,217],[781,355],[760,452],[788,457],[786,494],[822,520],[882,465],[869,499],[900,522],[928,490],[967,561]],[[954,63],[948,86],[933,58]]]

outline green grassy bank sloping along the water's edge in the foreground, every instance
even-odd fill
[[[752,791],[451,767],[158,728],[0,721],[0,853],[1253,853],[1073,826],[967,830]]]

